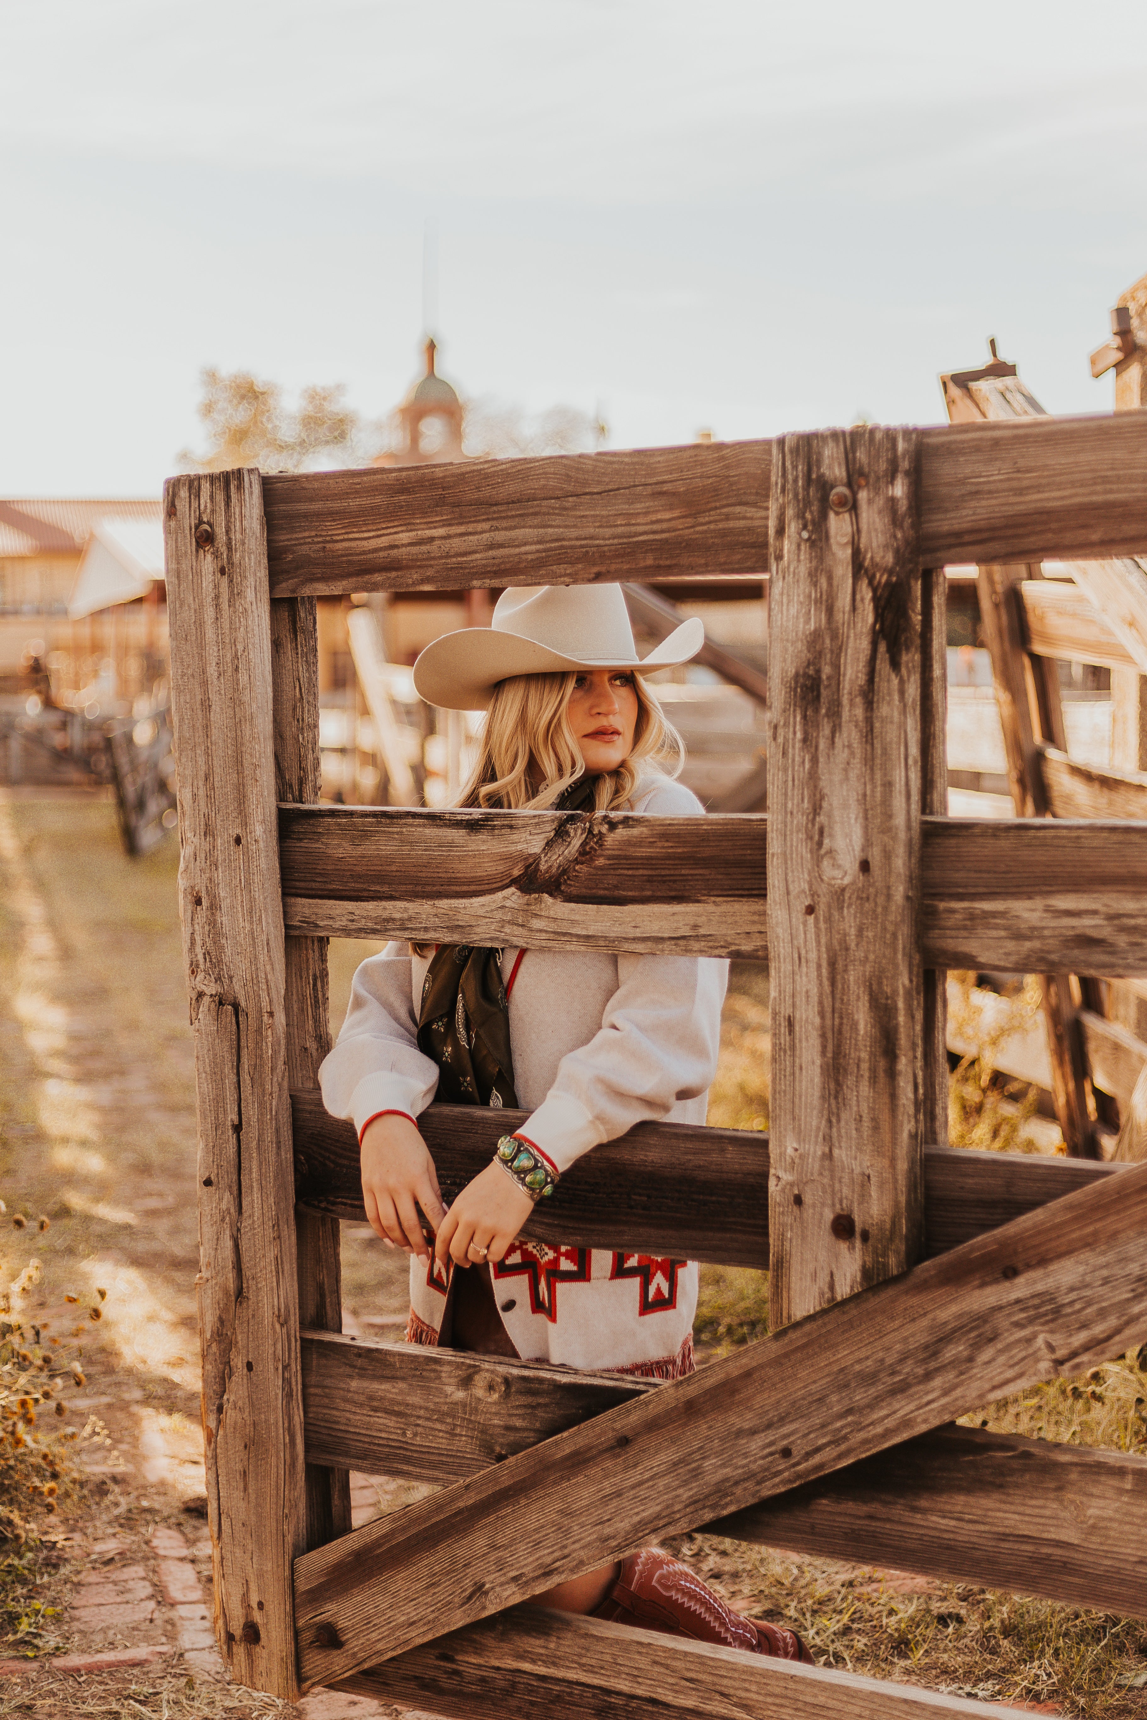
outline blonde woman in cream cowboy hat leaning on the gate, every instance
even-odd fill
[[[664,769],[681,743],[643,671],[693,657],[686,621],[640,666],[621,587],[506,592],[490,628],[451,633],[414,664],[447,710],[487,710],[459,805],[695,815]],[[373,1230],[411,1256],[408,1342],[657,1379],[693,1373],[696,1262],[521,1242],[538,1199],[643,1118],[703,1123],[727,963],[605,951],[389,944],[354,975],[320,1070],[354,1121]],[[530,1109],[444,1209],[418,1116],[451,1104]],[[423,1238],[420,1209],[435,1235]],[[655,1548],[561,1582],[542,1605],[788,1660],[800,1637],[731,1612]]]

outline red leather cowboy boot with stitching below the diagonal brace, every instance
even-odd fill
[[[666,1631],[669,1636],[691,1636],[696,1643],[743,1648],[750,1655],[776,1655],[781,1660],[803,1660],[813,1665],[796,1631],[758,1624],[755,1619],[734,1613],[679,1558],[650,1546],[623,1558],[617,1581],[593,1617],[609,1619],[612,1624],[640,1624],[647,1631]]]

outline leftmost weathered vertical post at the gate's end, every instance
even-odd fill
[[[291,1698],[303,1393],[258,471],[172,478],[163,525],[215,1625],[232,1679]]]

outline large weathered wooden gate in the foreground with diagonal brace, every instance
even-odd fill
[[[1147,1166],[949,1151],[942,970],[1147,972],[1147,824],[941,814],[942,564],[1147,549],[1147,413],[203,473],[170,480],[165,526],[232,1677],[538,1720],[1003,1713],[521,1608],[700,1526],[1144,1615],[1144,1459],[948,1424],[1147,1336]],[[769,817],[313,805],[316,593],[765,557]],[[337,1216],[361,1195],[315,1089],[346,932],[767,949],[769,1142],[643,1125],[528,1233],[769,1262],[772,1335],[655,1388],[342,1338]],[[447,1195],[492,1127],[426,1113]],[[351,1531],[351,1467],[440,1491]]]

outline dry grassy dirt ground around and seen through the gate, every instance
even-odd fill
[[[52,1221],[36,1237],[45,1319],[72,1318],[65,1293],[88,1305],[107,1292],[103,1318],[83,1340],[86,1385],[72,1412],[100,1417],[107,1443],[88,1448],[84,1502],[62,1500],[36,1555],[36,1593],[60,1610],[31,1634],[10,1634],[0,1653],[139,1648],[165,1631],[175,1641],[172,1631],[194,1631],[194,1601],[181,1613],[170,1594],[191,1582],[187,1570],[210,1569],[199,1503],[193,1049],[175,867],[174,841],[127,860],[107,800],[0,789],[0,1194],[9,1213]],[[335,1023],[351,974],[373,948],[332,944]],[[710,1121],[765,1128],[767,980],[738,970],[734,984]],[[404,1261],[366,1225],[344,1226],[344,1302],[349,1328],[377,1335],[397,1335],[406,1314]],[[705,1352],[762,1330],[760,1275],[708,1273],[698,1316]],[[402,1496],[356,1477],[356,1520]],[[702,1538],[684,1538],[681,1550],[746,1612],[800,1629],[822,1663],[1089,1720],[1147,1715],[1147,1631],[1128,1620]],[[153,1593],[156,1612],[146,1625],[124,1615],[122,1627],[93,1637],[69,1620],[105,1565],[124,1579],[124,1594],[132,1584]],[[191,1620],[186,1629],[177,1615]],[[389,1711],[334,1694],[292,1710],[232,1691],[210,1653],[98,1674],[29,1660],[26,1674],[0,1677],[0,1717],[365,1720]]]

